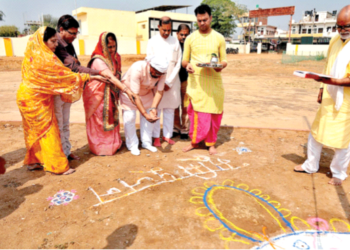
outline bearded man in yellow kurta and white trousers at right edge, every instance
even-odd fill
[[[339,12],[337,29],[339,34],[330,41],[323,72],[332,78],[318,79],[322,82],[321,105],[309,135],[307,160],[294,168],[297,172],[317,172],[323,145],[332,147],[332,185],[345,180],[350,162],[350,5]]]

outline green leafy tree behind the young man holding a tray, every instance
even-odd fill
[[[245,5],[230,0],[203,0],[202,4],[209,5],[212,10],[211,27],[225,37],[235,33],[236,21],[247,12]]]

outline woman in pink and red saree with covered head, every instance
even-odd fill
[[[104,32],[100,35],[88,67],[99,71],[112,71],[115,77],[109,80],[133,102],[132,92],[119,81],[121,58],[117,53],[117,39],[113,33]],[[83,101],[86,133],[90,150],[95,155],[113,155],[122,145],[119,133],[118,88],[97,80],[85,85]]]

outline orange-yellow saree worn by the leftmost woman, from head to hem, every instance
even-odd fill
[[[45,45],[45,29],[40,28],[29,38],[17,105],[27,148],[24,164],[40,163],[45,171],[61,174],[69,169],[69,164],[61,146],[53,96],[72,96],[73,100],[90,76],[73,73],[63,65]]]

